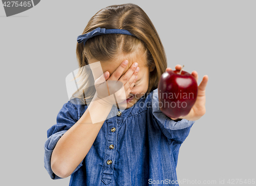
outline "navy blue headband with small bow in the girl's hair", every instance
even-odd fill
[[[86,41],[94,36],[98,36],[98,35],[102,35],[102,34],[125,34],[125,35],[130,35],[130,36],[134,36],[132,35],[129,31],[126,30],[122,30],[122,29],[101,29],[101,28],[97,28],[94,29],[93,31],[87,33],[87,34],[83,34],[77,37],[77,42],[81,43],[83,42],[83,45],[86,44]]]

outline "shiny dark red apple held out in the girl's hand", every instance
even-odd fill
[[[186,116],[196,102],[197,89],[190,73],[182,69],[164,72],[158,84],[160,110],[170,118]]]

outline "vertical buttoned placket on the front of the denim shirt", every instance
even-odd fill
[[[105,146],[105,154],[104,154],[104,162],[103,162],[103,170],[101,180],[108,184],[112,181],[113,172],[114,172],[114,164],[115,157],[117,152],[117,117],[120,117],[119,109],[116,107],[112,107],[111,112],[108,116],[108,120],[106,120],[107,124],[107,132],[106,132],[106,146]],[[120,115],[120,116],[118,116]]]

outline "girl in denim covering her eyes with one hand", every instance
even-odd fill
[[[78,37],[76,54],[79,67],[100,63],[104,76],[92,68],[99,86],[95,82],[90,104],[84,90],[83,97],[74,94],[47,131],[45,168],[51,178],[71,175],[70,185],[178,185],[179,148],[205,114],[208,76],[187,116],[165,116],[157,86],[161,74],[172,69],[153,23],[134,4],[97,12]],[[198,80],[196,71],[192,75]],[[111,82],[123,85],[122,94]],[[107,96],[102,85],[109,85]]]

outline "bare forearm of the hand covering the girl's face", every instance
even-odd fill
[[[103,105],[100,101],[92,101],[82,117],[56,144],[51,156],[51,167],[59,177],[68,177],[92,147],[112,108],[112,105]],[[101,117],[101,121],[95,123],[97,116]]]

